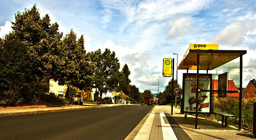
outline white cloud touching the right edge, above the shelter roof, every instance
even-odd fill
[[[233,22],[216,34],[216,36],[211,39],[211,42],[220,45],[239,46],[243,43],[246,36],[252,36],[253,33],[255,34],[255,27],[256,24],[253,20]]]

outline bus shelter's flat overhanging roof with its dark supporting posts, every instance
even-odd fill
[[[208,71],[220,67],[234,59],[239,59],[239,130],[241,130],[241,108],[242,108],[242,85],[243,85],[243,55],[246,50],[201,50],[201,49],[188,49],[184,55],[184,59],[180,62],[177,69],[196,70],[196,85],[198,85],[198,78],[200,77],[199,70]],[[184,81],[183,81],[184,82]],[[198,86],[196,86],[196,99],[198,99]],[[212,88],[208,92],[213,91]],[[227,91],[228,92],[228,91]],[[210,112],[212,113],[212,112]],[[196,101],[196,120],[195,129],[197,129],[197,116],[198,116],[198,101]]]

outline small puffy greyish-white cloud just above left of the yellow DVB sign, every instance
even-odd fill
[[[177,15],[173,20],[170,20],[168,26],[172,29],[168,32],[166,39],[174,39],[184,34],[198,32],[198,29],[193,27],[193,18],[190,16]]]

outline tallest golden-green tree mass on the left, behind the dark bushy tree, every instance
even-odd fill
[[[40,91],[36,91],[36,87],[44,85],[50,78],[67,84],[68,90],[70,85],[81,89],[92,87],[94,64],[90,60],[91,54],[84,50],[83,36],[77,41],[71,30],[62,41],[59,25],[50,24],[50,21],[49,15],[40,18],[36,5],[30,10],[25,8],[24,12],[15,14],[13,32],[5,38],[17,39],[28,47],[24,54],[29,56],[28,69],[33,81],[26,88],[28,91],[23,92],[26,102],[38,99]]]

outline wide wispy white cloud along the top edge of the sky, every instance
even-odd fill
[[[105,9],[118,10],[124,17],[124,24],[120,27],[120,31],[126,31],[129,28],[136,29],[138,27],[145,28],[148,25],[163,20],[168,20],[178,13],[196,14],[198,11],[207,8],[210,0],[193,0],[193,1],[118,1],[109,0],[102,1]],[[112,17],[114,13],[106,13],[107,17]],[[156,31],[156,30],[155,30]]]

